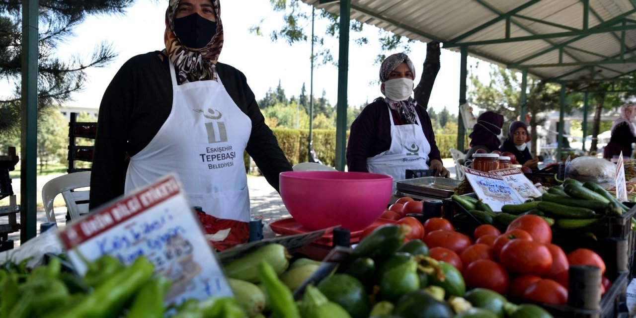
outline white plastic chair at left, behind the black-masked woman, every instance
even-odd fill
[[[55,222],[53,200],[62,193],[71,220],[78,219],[88,213],[88,195],[90,190],[71,191],[90,186],[90,171],[74,172],[56,177],[42,187],[42,201],[46,212],[46,219]]]

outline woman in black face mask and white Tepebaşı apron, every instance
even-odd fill
[[[208,225],[249,234],[244,150],[277,191],[292,168],[244,74],[218,62],[219,0],[170,0],[163,38],[163,50],[125,62],[104,93],[90,207],[176,172]]]

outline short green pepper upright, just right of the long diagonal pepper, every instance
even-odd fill
[[[128,318],[160,318],[165,308],[163,301],[172,286],[172,281],[165,276],[158,276],[150,280],[135,296],[126,317]]]

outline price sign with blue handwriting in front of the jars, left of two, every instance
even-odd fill
[[[501,176],[470,168],[464,169],[464,172],[477,197],[490,205],[492,211],[501,211],[501,207],[505,204],[523,203],[521,195]]]

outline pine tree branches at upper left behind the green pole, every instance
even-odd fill
[[[88,67],[106,66],[116,54],[102,43],[88,58],[84,48],[78,55],[61,60],[57,46],[73,35],[89,15],[123,13],[134,0],[40,0],[38,41],[38,109],[62,104],[83,88]],[[0,1],[0,79],[13,86],[8,96],[0,96],[0,134],[16,134],[20,127],[22,72],[22,1]],[[90,55],[90,54],[89,54]],[[13,131],[11,131],[13,130]]]

